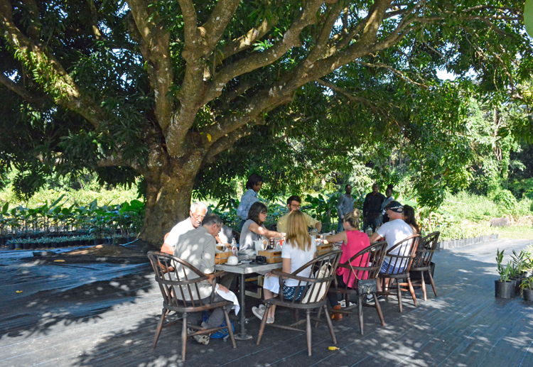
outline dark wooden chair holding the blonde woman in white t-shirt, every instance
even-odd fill
[[[308,355],[311,356],[311,319],[317,321],[318,318],[311,318],[311,311],[320,309],[321,307],[324,310],[325,321],[328,323],[328,329],[331,334],[331,339],[333,339],[333,344],[337,344],[337,339],[335,339],[335,332],[333,332],[333,323],[331,322],[330,317],[328,317],[328,308],[325,305],[325,295],[328,293],[328,287],[332,280],[335,279],[335,272],[337,271],[337,266],[340,260],[340,255],[343,252],[340,250],[331,251],[325,253],[318,258],[314,258],[312,261],[309,261],[303,265],[294,273],[284,273],[281,270],[275,269],[272,270],[272,274],[279,277],[279,295],[269,300],[265,300],[266,310],[264,312],[263,319],[261,320],[261,328],[259,329],[259,336],[257,338],[257,345],[261,342],[263,336],[264,327],[266,324],[266,318],[268,316],[270,307],[276,305],[276,307],[289,307],[295,310],[296,322],[290,325],[279,325],[279,324],[268,324],[269,327],[277,327],[279,329],[294,330],[296,332],[303,332],[302,329],[298,329],[297,326],[300,324],[306,323],[306,335],[307,335],[307,351]],[[304,269],[311,268],[311,274],[313,278],[305,278],[298,276],[296,274],[301,273]],[[298,292],[295,292],[294,297],[291,299],[284,299],[283,295],[283,280],[284,279],[295,279],[298,280],[298,287],[305,287],[305,292],[301,301],[297,301]],[[306,319],[298,321],[298,310],[306,310]],[[318,314],[320,317],[320,314]]]

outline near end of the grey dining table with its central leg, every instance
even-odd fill
[[[246,275],[247,274],[264,274],[273,269],[281,269],[283,263],[267,263],[264,265],[239,262],[237,265],[218,264],[215,265],[216,270],[224,270],[227,273],[234,273],[239,275],[239,304],[240,304],[240,331],[235,334],[237,340],[252,339],[252,335],[246,332]]]

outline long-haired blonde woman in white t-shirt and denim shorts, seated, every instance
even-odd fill
[[[287,233],[286,241],[281,248],[281,258],[283,258],[283,272],[293,273],[302,265],[305,265],[309,261],[313,260],[316,256],[316,243],[311,240],[307,232],[306,219],[303,213],[299,210],[294,210],[289,214],[287,219]],[[311,268],[301,271],[298,276],[308,278],[311,276]],[[298,288],[298,289],[297,289]],[[264,299],[276,297],[279,293],[279,280],[276,275],[272,273],[266,273],[264,284]],[[298,280],[286,279],[283,285],[283,296],[286,299],[292,300],[296,295],[296,300],[301,300],[305,292],[305,284],[301,284],[298,287]],[[264,305],[259,307],[252,307],[252,312],[259,319],[263,319]],[[269,315],[266,319],[267,324],[274,322],[274,312],[276,312],[276,306],[270,307]]]

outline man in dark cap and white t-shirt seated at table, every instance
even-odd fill
[[[396,243],[407,239],[407,237],[413,235],[413,229],[402,219],[402,214],[404,213],[404,207],[397,201],[392,201],[387,204],[385,207],[385,212],[389,216],[389,221],[380,226],[375,234],[370,236],[370,243],[380,241],[384,239],[387,241],[387,250],[392,248]],[[403,246],[403,245],[402,245]],[[400,246],[400,247],[402,247]],[[409,243],[405,243],[405,246],[409,246]],[[397,255],[400,252],[401,248],[396,248],[393,251],[393,254]],[[388,271],[387,271],[388,268]],[[396,274],[402,272],[404,269],[390,267],[387,261],[383,261],[383,265],[379,273]],[[377,283],[377,290],[381,291],[381,283]]]

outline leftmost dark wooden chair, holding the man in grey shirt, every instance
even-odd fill
[[[227,314],[225,309],[226,306],[232,305],[230,301],[223,302],[213,302],[215,297],[215,286],[217,283],[217,277],[224,275],[225,272],[219,271],[212,274],[204,274],[193,265],[190,265],[186,261],[183,261],[181,258],[176,258],[176,256],[168,255],[167,253],[161,253],[158,251],[150,251],[148,253],[148,258],[152,268],[154,268],[154,273],[156,273],[156,282],[161,289],[161,294],[163,295],[163,311],[161,312],[161,319],[157,325],[156,336],[154,339],[154,349],[156,349],[157,341],[161,330],[163,327],[170,326],[171,324],[176,324],[176,322],[182,323],[181,329],[181,360],[185,361],[185,351],[187,348],[187,339],[188,336],[195,336],[200,334],[211,334],[222,329],[227,328],[227,332],[230,334],[232,339],[233,348],[237,348],[235,344],[235,338],[233,336],[232,326],[230,322],[230,317]],[[180,271],[183,268],[188,268],[188,273]],[[196,275],[196,278],[193,278],[191,275]],[[198,296],[200,294],[198,290],[198,283],[205,280],[212,279],[212,292],[211,292],[211,302],[205,303],[200,300]],[[190,300],[185,300],[185,294],[192,295]],[[180,298],[176,295],[181,295]],[[187,317],[189,312],[203,312],[205,310],[214,310],[216,308],[222,307],[224,316],[226,319],[226,327],[215,327],[212,329],[203,329],[197,325],[188,324]],[[182,317],[173,322],[168,322],[165,324],[166,314],[170,311],[175,311],[182,313]],[[193,329],[196,332],[193,334],[187,333],[187,328]]]

